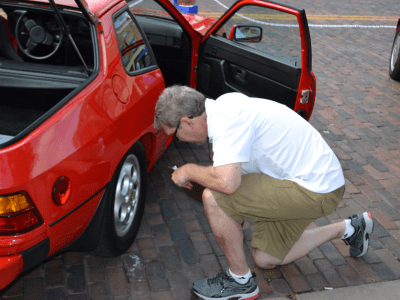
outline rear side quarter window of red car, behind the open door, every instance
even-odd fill
[[[127,72],[134,72],[154,64],[147,44],[128,11],[114,19],[115,34]]]

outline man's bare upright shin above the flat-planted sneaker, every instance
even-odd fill
[[[241,225],[219,208],[209,189],[203,192],[203,204],[211,229],[228,260],[231,271],[237,275],[246,274],[249,266],[244,254]]]

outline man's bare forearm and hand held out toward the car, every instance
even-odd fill
[[[241,163],[219,167],[186,164],[172,173],[172,181],[180,187],[190,187],[190,181],[225,194],[233,194],[242,180]]]

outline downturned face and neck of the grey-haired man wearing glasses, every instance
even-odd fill
[[[205,114],[195,118],[183,117],[180,120],[179,127],[169,127],[164,124],[161,127],[167,135],[175,133],[176,138],[183,142],[196,144],[207,142],[208,131]]]

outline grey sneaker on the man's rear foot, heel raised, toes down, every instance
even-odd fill
[[[350,256],[361,257],[368,251],[369,235],[374,229],[374,221],[370,212],[352,215],[348,219],[355,231],[351,236],[343,238],[343,241],[350,245]]]

